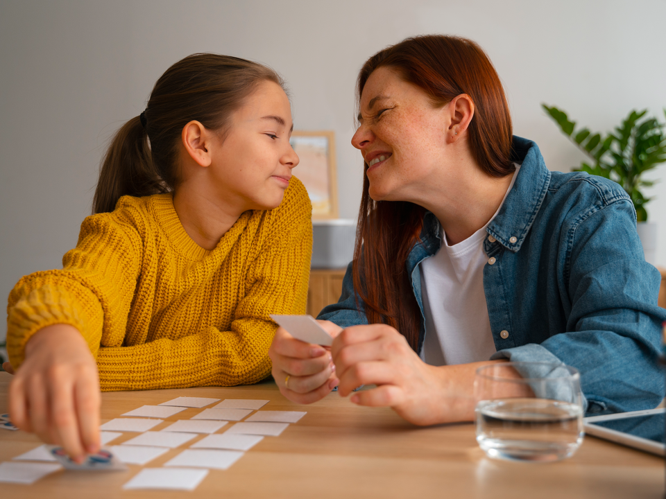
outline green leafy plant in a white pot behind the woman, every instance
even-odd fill
[[[666,123],[645,116],[647,110],[632,110],[613,132],[592,133],[588,128],[577,129],[576,122],[570,121],[567,114],[557,107],[545,104],[542,107],[563,134],[589,158],[589,162],[582,161],[579,168],[572,169],[614,180],[629,194],[636,209],[638,234],[645,259],[654,263],[656,225],[647,223],[645,210],[645,204],[652,198],[644,197],[641,192],[643,187],[652,186],[654,182],[643,180],[641,176],[666,162]]]

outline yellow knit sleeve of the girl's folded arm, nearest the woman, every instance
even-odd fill
[[[311,205],[302,184],[268,211],[264,243],[244,276],[245,295],[231,328],[197,329],[178,340],[103,347],[97,363],[101,388],[160,389],[256,383],[271,372],[268,348],[277,326],[271,314],[303,314],[312,248]]]

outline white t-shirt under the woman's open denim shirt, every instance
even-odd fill
[[[513,188],[520,168],[515,166],[509,189],[493,218]],[[484,292],[484,265],[488,263],[484,252],[486,227],[488,224],[452,246],[440,227],[442,246],[420,265],[425,312],[421,359],[429,365],[479,362],[497,351]]]

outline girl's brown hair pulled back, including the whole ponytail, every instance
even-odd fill
[[[175,189],[182,128],[196,120],[223,134],[232,113],[263,81],[284,89],[273,69],[229,55],[197,53],[173,64],[155,83],[143,116],[130,119],[113,137],[100,168],[93,213],[113,211],[123,195]]]

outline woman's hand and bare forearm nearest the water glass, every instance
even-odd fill
[[[427,365],[404,336],[386,324],[345,329],[333,341],[332,355],[341,396],[360,385],[377,385],[353,394],[350,401],[391,407],[418,425],[472,421],[475,371],[481,365],[501,362]]]

